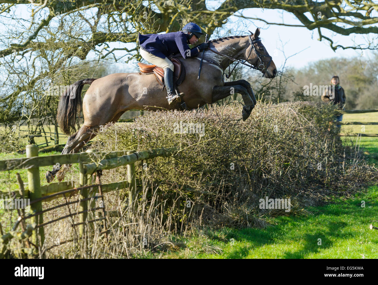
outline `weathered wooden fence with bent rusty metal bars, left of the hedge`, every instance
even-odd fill
[[[12,238],[23,240],[25,242],[26,247],[21,248],[23,253],[30,255],[33,254],[33,252],[38,252],[38,248],[43,245],[45,239],[44,226],[76,215],[79,215],[79,223],[73,223],[72,226],[79,226],[79,237],[82,237],[85,230],[85,224],[105,219],[105,205],[103,200],[101,200],[101,206],[96,208],[96,199],[103,199],[104,193],[117,189],[128,189],[129,205],[131,203],[131,209],[133,209],[137,195],[137,179],[135,177],[134,163],[140,160],[152,159],[158,156],[172,156],[176,152],[176,148],[161,148],[148,151],[114,151],[110,153],[95,152],[88,149],[85,153],[39,157],[38,147],[36,145],[27,145],[26,158],[1,160],[0,171],[27,169],[28,188],[24,189],[23,182],[17,173],[16,176],[19,182],[19,191],[14,191],[11,193],[0,192],[0,199],[10,196],[11,201],[13,201],[15,205],[17,201],[19,201],[17,199],[30,199],[30,212],[25,213],[23,208],[16,209],[18,219],[12,226],[12,229],[6,234],[3,233],[2,226],[0,224],[0,231],[2,235],[0,237],[0,258],[5,256],[6,244]],[[99,159],[96,160],[96,157],[102,157],[103,159],[98,161]],[[58,163],[59,165],[79,163],[80,174],[78,187],[74,187],[73,182],[56,182],[45,186],[40,185],[39,167],[52,165],[57,166]],[[127,165],[127,180],[107,184],[101,183],[101,171],[103,169],[113,169],[123,165]],[[92,174],[96,174],[95,184],[92,183],[93,179],[95,178]],[[77,193],[79,194],[78,200],[71,202],[67,201],[66,194]],[[59,197],[64,197],[65,203],[45,210],[42,209],[43,202],[57,199]],[[76,213],[71,213],[70,211],[69,215],[58,217],[50,221],[43,220],[44,213],[75,203],[79,204],[79,209]],[[102,217],[99,219],[92,219],[90,217],[91,219],[88,219],[88,213],[94,213],[96,210],[102,211]],[[95,215],[93,214],[92,216]],[[27,225],[28,220],[30,222]],[[21,231],[17,230],[19,225],[21,226]],[[106,224],[104,232],[102,233],[105,233],[105,235],[107,233]],[[29,240],[30,237],[31,240]],[[70,241],[73,240],[60,242],[60,244]]]

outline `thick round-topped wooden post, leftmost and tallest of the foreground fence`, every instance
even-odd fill
[[[26,145],[26,157],[34,157],[38,156],[38,146],[36,145]],[[39,167],[38,165],[28,168],[28,188],[29,188],[29,198],[30,201],[39,199],[41,197],[41,185],[39,180]],[[30,213],[35,214],[42,211],[42,201],[33,203],[30,205]],[[36,223],[41,224],[43,223],[43,214],[40,214],[35,217],[31,217],[31,224]],[[38,231],[38,233],[37,233]],[[38,238],[39,236],[39,238]],[[45,241],[45,232],[43,230],[43,227],[34,230],[31,236],[31,239],[33,240],[33,243],[36,246],[39,246],[39,240],[40,245],[43,245],[43,242]]]

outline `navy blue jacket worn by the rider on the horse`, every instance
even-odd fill
[[[183,31],[170,32],[166,34],[139,34],[139,45],[143,46],[147,51],[151,52],[157,57],[165,59],[170,54],[181,53],[184,59],[187,56],[187,50],[190,49],[188,45],[189,35]],[[191,57],[198,55],[197,48],[190,49]]]

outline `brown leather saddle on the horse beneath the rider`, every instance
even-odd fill
[[[184,78],[185,78],[185,71],[184,66],[181,65],[180,60],[172,57],[170,61],[174,65],[174,72],[173,72],[173,82],[177,85],[180,85]],[[158,82],[160,85],[164,85],[164,70],[161,67],[158,67],[154,64],[145,64],[138,62],[139,69],[142,74],[152,74],[154,73],[156,75],[156,78],[158,79]],[[164,87],[163,87],[164,88]]]

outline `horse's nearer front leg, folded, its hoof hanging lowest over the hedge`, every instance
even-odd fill
[[[234,89],[232,90],[231,88],[234,88]],[[244,86],[242,85],[233,85],[233,86],[216,85],[214,86],[211,93],[212,103],[230,96],[231,94],[233,94],[231,91],[242,95],[243,101],[246,104],[246,106],[243,106],[243,111],[242,111],[243,121],[245,121],[246,119],[248,119],[249,115],[251,115],[251,111],[254,108],[255,104],[253,103],[251,97],[249,96],[249,92]]]

